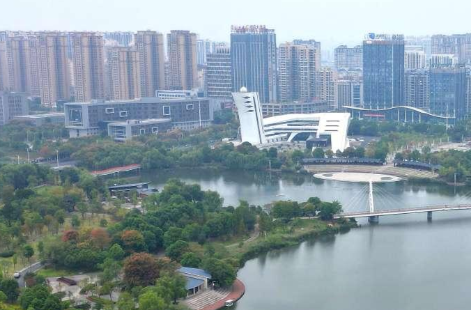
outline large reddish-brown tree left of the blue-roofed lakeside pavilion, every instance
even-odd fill
[[[124,262],[124,281],[130,286],[152,285],[158,276],[157,262],[150,254],[132,254]]]

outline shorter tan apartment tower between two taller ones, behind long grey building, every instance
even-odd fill
[[[139,52],[132,47],[107,50],[109,98],[128,100],[141,97]]]

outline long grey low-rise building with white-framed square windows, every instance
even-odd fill
[[[107,130],[108,123],[170,118],[172,128],[208,127],[219,109],[209,98],[139,98],[134,100],[68,102],[64,104],[65,128],[70,137],[86,137]]]

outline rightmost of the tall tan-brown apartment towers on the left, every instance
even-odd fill
[[[198,86],[196,66],[196,33],[172,30],[167,34],[167,56],[170,64],[170,88],[189,90]]]

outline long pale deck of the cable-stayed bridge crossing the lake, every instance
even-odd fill
[[[424,212],[437,212],[437,211],[452,211],[452,210],[471,210],[471,205],[450,205],[450,206],[428,206],[425,208],[403,208],[396,210],[377,210],[374,212],[364,211],[364,212],[350,212],[350,213],[341,213],[335,215],[335,219],[345,217],[347,219],[352,217],[374,217],[374,216],[383,216],[383,215],[401,215],[401,214],[412,214],[412,213],[424,213]]]

